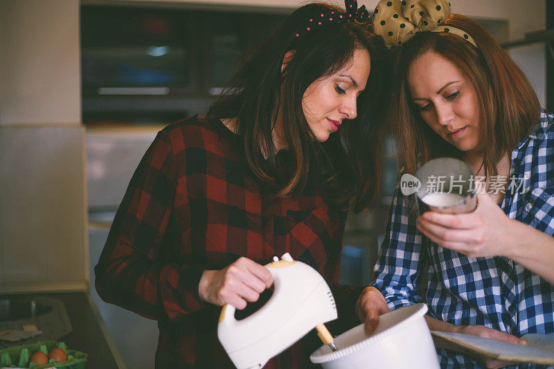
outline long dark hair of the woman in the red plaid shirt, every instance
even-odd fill
[[[368,24],[357,21],[328,24],[295,37],[308,19],[330,10],[343,12],[327,3],[310,3],[292,12],[229,80],[208,114],[237,118],[235,133],[247,165],[277,197],[301,192],[316,173],[322,177],[329,199],[341,204],[353,200],[354,210],[361,211],[377,192],[379,137],[383,107],[390,96],[391,63],[382,38]],[[314,81],[351,63],[356,49],[366,49],[370,55],[370,75],[365,91],[357,98],[357,117],[319,143],[303,114],[303,95]],[[289,51],[294,55],[281,73]],[[272,132],[279,111],[294,158],[294,169],[286,181],[276,181],[279,163]]]

